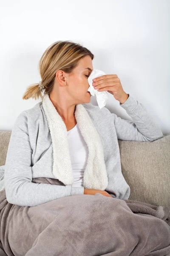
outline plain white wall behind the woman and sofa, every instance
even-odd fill
[[[170,133],[169,0],[1,0],[0,36],[1,131],[11,131],[20,112],[41,101],[22,96],[40,80],[45,49],[71,40],[91,50],[95,69],[117,74],[125,92]],[[93,96],[91,103],[97,105]],[[111,94],[106,108],[132,120]]]

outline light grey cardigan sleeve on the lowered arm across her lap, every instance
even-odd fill
[[[27,111],[23,111],[14,123],[6,155],[4,185],[9,203],[31,207],[65,196],[84,194],[84,187],[33,183],[31,154]]]

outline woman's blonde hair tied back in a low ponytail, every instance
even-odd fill
[[[54,79],[57,70],[65,73],[72,73],[79,61],[89,55],[93,60],[94,55],[90,50],[80,44],[71,41],[57,41],[51,44],[43,53],[39,61],[39,72],[41,83],[45,88],[45,94],[49,94],[54,86]],[[31,84],[27,87],[23,99],[43,99],[39,84]]]

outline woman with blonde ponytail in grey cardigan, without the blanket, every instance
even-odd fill
[[[129,198],[118,140],[154,141],[163,134],[146,108],[125,93],[116,75],[98,77],[96,84],[113,94],[133,121],[90,103],[88,77],[93,58],[88,49],[69,41],[57,41],[43,53],[42,81],[28,87],[23,96],[41,97],[42,102],[20,113],[8,145],[5,187],[9,203],[35,206],[96,193]],[[57,179],[58,185],[31,182],[37,177]]]

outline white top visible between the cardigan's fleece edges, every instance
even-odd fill
[[[68,134],[68,147],[71,157],[74,182],[72,186],[83,186],[83,175],[88,160],[88,146],[82,137],[78,125],[76,124]]]

